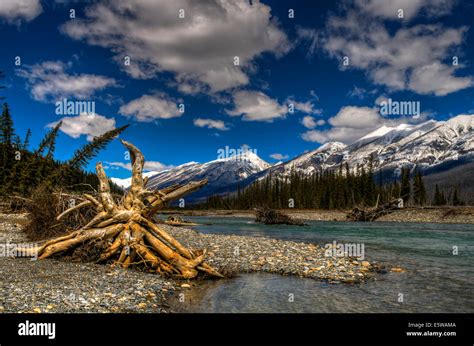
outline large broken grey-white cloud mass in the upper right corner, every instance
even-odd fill
[[[347,57],[348,66],[341,68],[364,70],[376,84],[444,96],[474,83],[472,76],[457,76],[462,64],[446,64],[464,42],[467,28],[419,24],[389,30],[384,20],[396,18],[399,8],[406,20],[421,13],[445,14],[450,7],[447,0],[360,0],[346,7],[345,15],[330,16],[324,31],[300,28],[298,33],[310,42],[310,51],[320,47],[339,61]]]

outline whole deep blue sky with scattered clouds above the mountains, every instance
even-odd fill
[[[122,138],[151,170],[242,145],[272,163],[474,113],[472,18],[474,4],[449,0],[4,0],[2,94],[33,147],[63,120],[58,159],[130,124]],[[56,114],[64,98],[95,102],[95,114]],[[420,102],[421,115],[381,116],[387,98]],[[129,175],[124,151],[101,152],[109,176]]]

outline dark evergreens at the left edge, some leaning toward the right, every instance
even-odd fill
[[[110,141],[127,127],[108,131],[76,150],[71,159],[54,159],[56,140],[62,123],[50,129],[36,149],[30,149],[31,130],[22,139],[15,132],[7,103],[3,104],[0,117],[0,195],[29,195],[35,188],[64,188],[69,191],[97,189],[99,180],[95,173],[84,171],[85,166]],[[115,184],[116,193],[122,190]]]

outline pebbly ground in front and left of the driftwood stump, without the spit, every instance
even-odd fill
[[[27,214],[0,214],[0,243],[28,242],[27,222]],[[167,313],[180,285],[106,265],[0,257],[0,313]]]

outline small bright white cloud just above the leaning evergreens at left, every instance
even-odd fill
[[[87,140],[91,141],[94,137],[115,129],[115,119],[106,118],[95,113],[82,113],[73,117],[64,117],[60,119],[63,124],[60,130],[72,138],[79,138],[82,135],[87,136]],[[54,127],[59,122],[47,124],[47,127]]]

